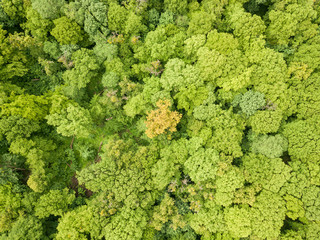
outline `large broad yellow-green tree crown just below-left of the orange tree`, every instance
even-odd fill
[[[151,194],[151,167],[156,161],[156,149],[117,139],[110,139],[102,149],[101,161],[77,174],[79,183],[93,192],[112,193],[116,203],[129,208],[153,204],[157,192]]]

